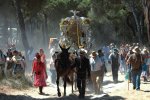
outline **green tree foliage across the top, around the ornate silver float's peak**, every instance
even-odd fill
[[[92,19],[94,34],[109,34],[122,36],[127,27],[126,17],[131,11],[129,4],[135,2],[136,10],[142,9],[141,0],[20,0],[25,18],[36,18],[36,22],[43,22],[44,15],[48,18],[48,28],[59,32],[62,18],[72,16],[69,10],[78,10],[79,16]],[[104,26],[109,31],[104,30]],[[111,27],[111,28],[110,28]],[[56,33],[56,32],[55,32]],[[117,33],[117,34],[116,34]],[[127,35],[125,35],[127,36]]]

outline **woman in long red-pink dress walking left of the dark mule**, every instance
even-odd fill
[[[47,73],[45,64],[41,62],[39,54],[36,54],[36,60],[33,62],[32,75],[34,75],[34,86],[39,87],[39,94],[44,94],[42,90],[46,86]]]

